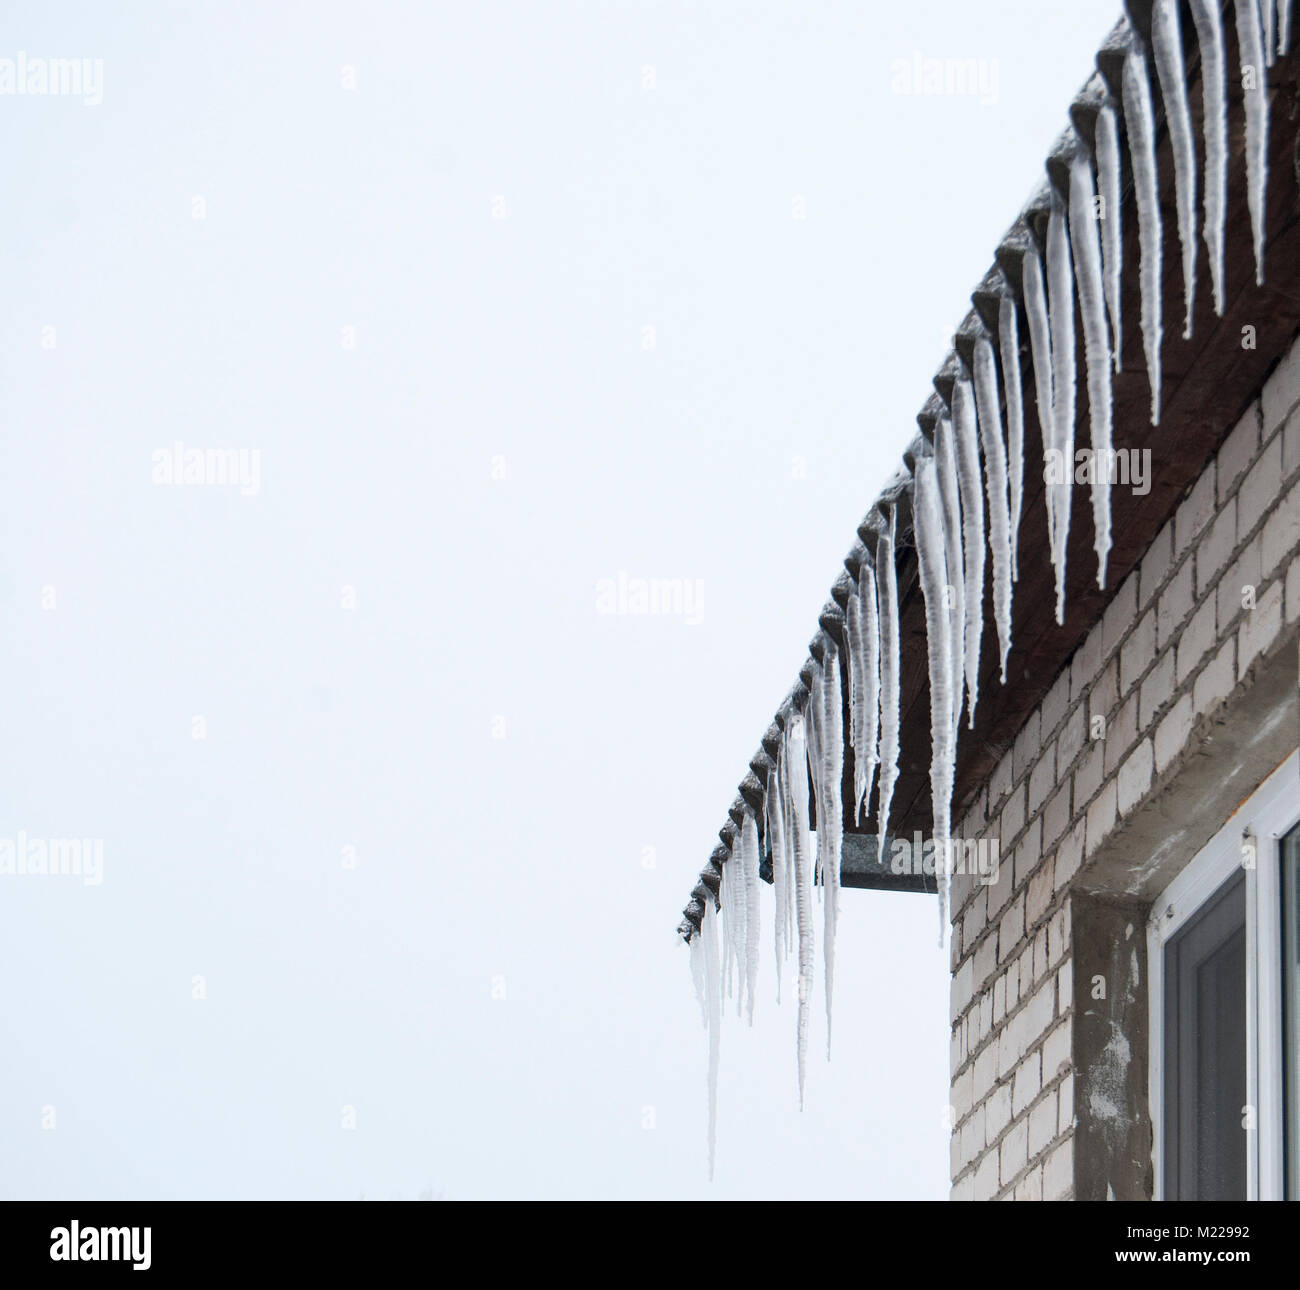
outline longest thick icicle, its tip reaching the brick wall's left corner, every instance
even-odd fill
[[[944,533],[944,506],[933,458],[916,463],[913,490],[916,562],[920,589],[926,597],[926,641],[930,658],[930,792],[935,817],[935,858],[939,879],[939,944],[948,923],[948,839],[953,800],[953,676],[948,635],[948,606],[944,581],[948,568],[948,542]]]

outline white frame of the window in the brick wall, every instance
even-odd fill
[[[1282,888],[1279,840],[1300,823],[1300,752],[1292,753],[1156,899],[1147,922],[1148,1099],[1156,1200],[1165,1198],[1165,941],[1244,865],[1247,1199],[1280,1200],[1283,1173]]]

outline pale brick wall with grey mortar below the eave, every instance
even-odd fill
[[[954,1199],[1074,1195],[1071,886],[1300,620],[1300,342],[1117,588],[961,824]],[[1095,737],[1093,718],[1102,718]]]

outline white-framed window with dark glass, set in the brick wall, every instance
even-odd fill
[[[1156,1198],[1300,1199],[1300,756],[1152,905]]]

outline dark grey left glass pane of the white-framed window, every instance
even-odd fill
[[[1244,1200],[1245,874],[1165,945],[1165,1198]]]

